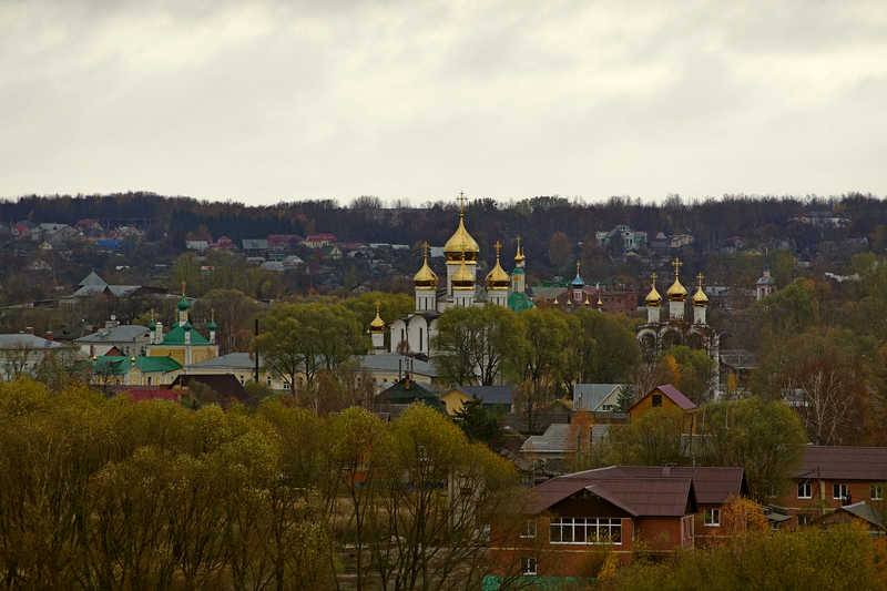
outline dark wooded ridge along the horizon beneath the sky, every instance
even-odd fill
[[[216,240],[223,235],[239,241],[264,238],[268,234],[329,233],[343,241],[409,245],[422,241],[443,245],[458,223],[455,200],[429,201],[419,206],[400,201],[392,207],[385,205],[373,196],[357,197],[348,204],[306,200],[246,205],[151,192],[29,195],[0,202],[0,220],[71,225],[83,218],[153,220],[156,231],[147,240],[159,240],[160,232],[182,228],[186,234],[203,225]],[[799,220],[809,212],[842,213],[848,223],[835,228],[833,237],[837,238],[871,237],[879,225],[887,223],[887,202],[860,193],[829,197],[741,194],[690,202],[684,202],[680,195],[670,195],[662,203],[643,203],[628,196],[594,203],[557,195],[509,203],[478,198],[468,202],[465,217],[485,258],[492,261],[492,245],[497,241],[502,243],[504,253],[510,253],[516,248],[517,236],[521,236],[528,254],[541,258],[555,232],[563,232],[574,243],[588,243],[594,240],[598,231],[609,231],[619,224],[645,232],[691,233],[701,251],[720,246],[731,236],[754,236],[766,227],[768,237],[792,237],[799,248],[805,248],[822,240],[822,228]]]

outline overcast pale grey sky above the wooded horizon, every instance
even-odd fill
[[[887,2],[0,0],[0,196],[887,194]]]

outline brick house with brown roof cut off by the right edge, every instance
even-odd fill
[[[859,501],[881,503],[887,488],[887,447],[805,446],[795,486],[781,505],[803,526]]]

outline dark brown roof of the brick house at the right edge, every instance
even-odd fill
[[[805,446],[795,479],[887,481],[887,447]]]

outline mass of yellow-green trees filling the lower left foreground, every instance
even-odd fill
[[[516,471],[420,405],[383,424],[0,386],[7,589],[475,588]],[[346,582],[347,581],[347,582]]]

